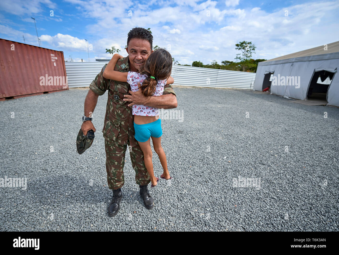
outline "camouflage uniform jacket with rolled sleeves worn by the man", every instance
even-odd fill
[[[138,144],[134,138],[134,115],[132,114],[132,107],[128,106],[130,102],[123,101],[124,95],[128,94],[131,87],[127,82],[117,82],[104,78],[102,75],[106,65],[89,85],[89,88],[98,95],[103,95],[108,90],[103,136],[106,140],[117,144],[127,144],[129,140],[129,145],[134,147]],[[114,70],[128,72],[128,57],[119,59]],[[170,93],[176,95],[171,85],[165,85],[163,94]]]

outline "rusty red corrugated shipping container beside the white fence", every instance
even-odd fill
[[[68,89],[62,51],[0,38],[0,101]]]

